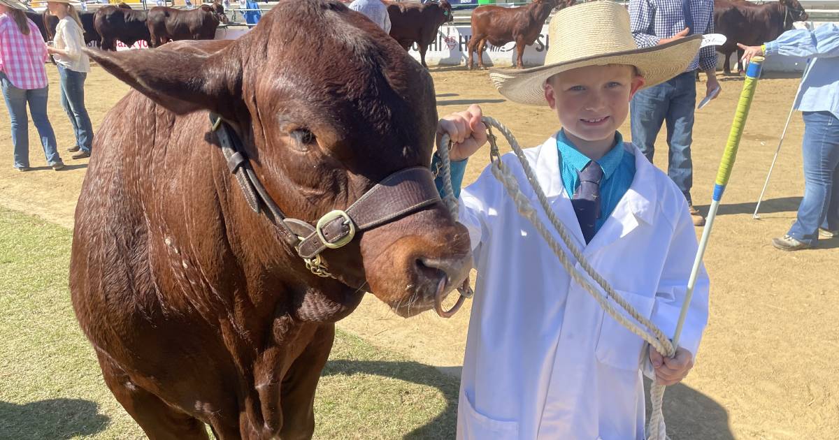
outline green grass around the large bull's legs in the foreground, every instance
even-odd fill
[[[143,438],[70,306],[71,232],[0,209],[0,439]],[[457,380],[338,332],[316,438],[454,437]]]

